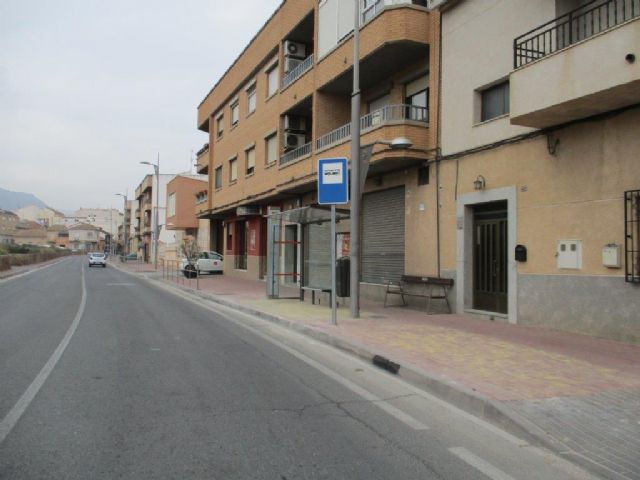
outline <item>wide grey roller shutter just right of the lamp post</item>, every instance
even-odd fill
[[[404,187],[362,200],[362,281],[384,284],[404,273]]]

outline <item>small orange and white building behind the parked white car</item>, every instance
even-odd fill
[[[208,199],[205,175],[178,174],[167,183],[166,225],[175,233],[175,241],[167,245],[165,258],[180,256],[180,245],[192,236],[202,250],[209,249],[209,222],[196,216]]]

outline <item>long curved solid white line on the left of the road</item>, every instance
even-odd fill
[[[29,408],[29,405],[40,391],[40,388],[42,388],[44,382],[46,382],[47,378],[49,378],[49,375],[51,375],[51,372],[58,363],[58,360],[60,360],[60,357],[62,357],[62,354],[66,350],[67,345],[69,345],[69,342],[71,341],[71,337],[73,337],[73,334],[78,328],[78,324],[80,323],[80,319],[82,318],[82,315],[84,313],[84,307],[86,303],[87,286],[84,281],[84,268],[82,268],[82,299],[80,300],[80,307],[76,312],[76,316],[73,319],[71,326],[67,330],[67,333],[62,338],[62,341],[55,349],[51,357],[49,357],[47,363],[44,364],[42,370],[40,370],[40,373],[38,373],[33,382],[31,382],[31,385],[29,385],[27,390],[25,390],[22,396],[18,399],[7,416],[2,419],[2,422],[0,422],[0,444],[4,442],[5,438],[7,438],[7,435],[11,433],[13,427],[15,427],[16,423],[18,423],[18,420],[20,420],[22,414],[27,410],[27,408]]]

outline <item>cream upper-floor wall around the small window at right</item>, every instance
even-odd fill
[[[442,154],[532,131],[508,116],[479,123],[477,90],[507,79],[513,40],[555,18],[555,0],[470,0],[442,15]]]

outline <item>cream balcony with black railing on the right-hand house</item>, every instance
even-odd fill
[[[511,123],[544,128],[640,102],[640,0],[594,0],[513,42]]]

